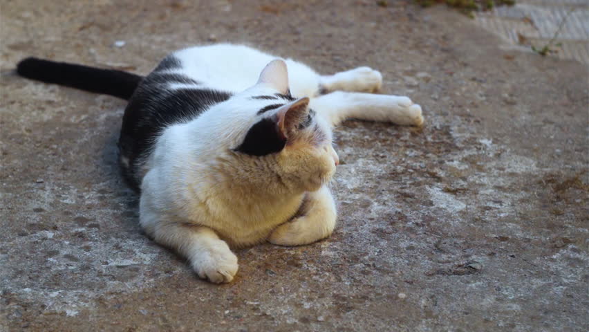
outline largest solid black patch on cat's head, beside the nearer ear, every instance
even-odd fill
[[[276,122],[264,118],[247,131],[245,139],[234,151],[252,156],[266,156],[282,151],[284,145],[286,139],[278,132]]]

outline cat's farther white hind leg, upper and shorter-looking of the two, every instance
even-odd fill
[[[382,75],[370,67],[358,67],[319,78],[319,93],[333,91],[375,92],[382,86]]]

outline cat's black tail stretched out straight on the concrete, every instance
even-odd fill
[[[125,100],[131,98],[143,79],[140,75],[125,71],[53,62],[35,57],[21,60],[17,65],[17,73],[32,80],[113,95]]]

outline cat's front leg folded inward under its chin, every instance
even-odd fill
[[[324,239],[335,228],[335,203],[329,188],[308,192],[300,216],[279,225],[268,241],[280,246],[302,246]]]

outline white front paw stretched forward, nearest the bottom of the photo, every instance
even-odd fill
[[[238,268],[237,257],[225,242],[196,252],[191,264],[198,277],[215,284],[231,282]]]

